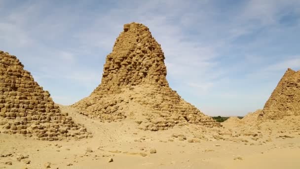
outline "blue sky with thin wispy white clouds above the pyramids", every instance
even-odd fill
[[[0,0],[0,50],[68,105],[100,84],[130,22],[150,28],[170,86],[207,115],[261,109],[300,70],[300,0]]]

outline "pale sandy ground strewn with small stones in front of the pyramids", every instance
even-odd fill
[[[101,123],[61,109],[93,137],[50,142],[0,133],[0,169],[300,169],[300,117],[144,131],[130,118]]]

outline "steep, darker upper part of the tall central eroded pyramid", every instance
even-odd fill
[[[94,93],[118,92],[124,85],[168,86],[164,53],[148,27],[132,22],[116,39],[107,55],[101,84]]]

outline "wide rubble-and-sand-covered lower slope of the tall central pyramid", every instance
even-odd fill
[[[143,130],[166,130],[187,124],[221,126],[183,100],[170,87],[141,84],[122,87],[120,90],[115,94],[92,94],[72,107],[101,122],[117,122],[129,118],[135,120]]]

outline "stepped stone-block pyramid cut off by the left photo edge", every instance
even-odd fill
[[[87,137],[23,68],[16,56],[0,51],[0,132],[49,141]]]

